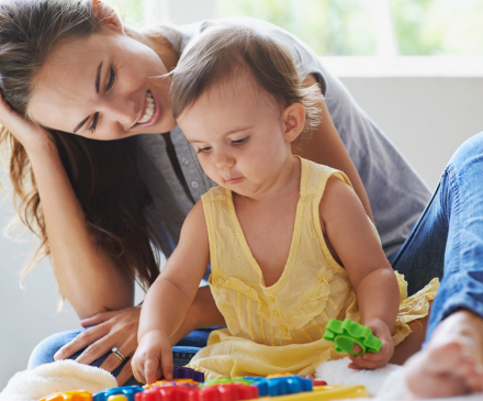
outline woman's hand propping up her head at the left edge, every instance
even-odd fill
[[[47,131],[31,121],[26,121],[16,111],[12,110],[1,93],[0,124],[10,131],[25,149],[35,149],[38,148],[38,145],[48,145],[52,143],[50,135]]]

